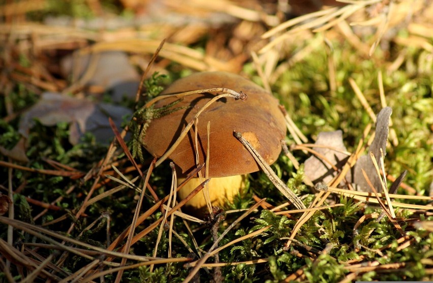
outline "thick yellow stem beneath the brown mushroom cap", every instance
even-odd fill
[[[224,206],[227,202],[232,202],[233,198],[239,194],[240,190],[245,185],[245,175],[235,175],[221,178],[211,178],[209,181],[209,196],[212,206]],[[182,182],[185,178],[178,178],[178,183]],[[199,184],[200,178],[192,178],[186,183],[177,193],[180,199],[186,198]],[[187,204],[187,209],[204,210],[206,208],[206,201],[204,199],[204,190],[195,195]]]

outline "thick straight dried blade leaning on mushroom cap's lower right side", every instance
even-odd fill
[[[266,161],[262,158],[260,153],[247,141],[242,137],[242,134],[239,132],[234,132],[234,136],[243,144],[243,146],[253,155],[253,158],[259,164],[260,168],[265,172],[266,176],[269,180],[276,186],[276,188],[286,197],[288,198],[298,209],[306,208],[302,201],[299,199],[295,193],[287,187],[287,185],[275,175],[270,166],[266,163]]]

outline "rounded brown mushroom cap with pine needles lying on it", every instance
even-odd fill
[[[240,132],[272,164],[281,152],[281,140],[286,135],[286,124],[279,102],[255,83],[226,72],[203,72],[179,79],[161,94],[168,95],[191,90],[225,87],[243,91],[248,99],[235,101],[223,98],[214,102],[198,118],[198,151],[200,163],[204,163],[207,149],[207,123],[210,121],[209,177],[225,177],[248,174],[259,170],[253,156],[233,136]],[[150,122],[144,138],[147,151],[162,156],[177,140],[181,131],[206,102],[217,92],[197,94],[183,98],[173,108],[187,106]],[[167,105],[176,98],[158,101],[154,107]],[[169,156],[188,174],[196,166],[194,127]]]

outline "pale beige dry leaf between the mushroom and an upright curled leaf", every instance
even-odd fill
[[[313,147],[313,150],[325,156],[325,158],[337,168],[341,168],[349,157],[347,154],[341,152],[347,149],[343,143],[343,133],[340,130],[319,133],[315,144],[329,147]],[[341,151],[336,151],[331,148]],[[305,175],[310,178],[313,183],[328,183],[337,174],[328,162],[318,158],[316,155],[310,156],[310,158],[305,161],[304,168]]]

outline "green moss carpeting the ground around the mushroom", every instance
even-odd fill
[[[51,2],[47,1],[47,3]],[[111,7],[110,9],[120,9],[112,2],[105,4]],[[91,9],[84,1],[77,2],[76,5],[78,6],[74,6],[72,10],[67,8],[68,13],[76,17],[91,16]],[[84,8],[81,9],[81,6]],[[55,6],[45,11],[56,15],[64,14],[65,9],[63,6]],[[129,12],[123,11],[122,13]],[[39,19],[39,17],[45,17],[46,14],[38,12],[30,16]],[[402,29],[398,36],[404,38],[406,35],[406,30]],[[306,39],[303,44],[307,46],[310,42],[317,42],[317,39],[323,36],[323,33],[316,34]],[[204,48],[206,40],[211,39],[202,39],[194,47]],[[433,38],[427,38],[426,41],[430,46],[433,44]],[[397,177],[404,170],[408,170],[404,182],[415,188],[418,195],[428,196],[431,194],[430,187],[433,182],[431,50],[399,46],[391,40],[391,47],[386,52],[378,48],[372,57],[366,57],[359,54],[357,48],[350,45],[345,39],[332,39],[330,44],[332,52],[326,47],[325,42],[322,42],[318,48],[282,72],[270,85],[273,94],[280,99],[298,128],[310,142],[314,142],[320,132],[342,130],[344,143],[348,151],[353,152],[359,141],[362,140],[362,133],[367,124],[373,121],[355,96],[349,78],[353,78],[368,104],[375,113],[378,113],[382,108],[378,84],[380,72],[383,75],[386,102],[393,110],[391,128],[394,129],[398,140],[398,145],[388,143],[385,157],[386,173]],[[403,63],[394,70],[390,68],[390,65],[399,55],[403,56]],[[25,56],[25,54],[21,55],[21,61],[18,64],[32,65],[32,58]],[[334,90],[330,86],[329,56],[332,56],[335,68],[333,79],[336,88]],[[279,62],[279,64],[283,63],[283,60]],[[188,67],[177,63],[166,66],[171,79],[191,72]],[[245,62],[242,72],[259,84],[262,83],[251,60]],[[152,87],[157,84],[157,81],[148,81],[148,83],[147,88],[155,90]],[[6,149],[13,148],[20,139],[18,133],[20,113],[33,105],[39,97],[39,90],[35,90],[31,84],[16,81],[11,85],[13,87],[10,91],[4,92],[0,98],[0,117],[2,117],[0,119],[0,145]],[[9,109],[11,106],[13,112],[16,113],[15,116],[11,116]],[[98,168],[97,164],[106,156],[108,147],[96,143],[91,135],[86,135],[80,144],[73,146],[69,143],[68,136],[69,125],[67,123],[47,127],[37,122],[28,136],[26,155],[29,162],[25,164],[25,167],[52,170],[53,167],[47,162],[47,160],[52,160],[82,172],[80,178],[74,179],[68,176],[14,169],[10,164],[15,162],[8,159],[7,156],[0,155],[1,161],[4,162],[0,167],[0,176],[2,176],[0,192],[7,194],[8,187],[12,187],[14,219],[35,224],[38,227],[42,225],[46,229],[83,243],[106,248],[131,224],[139,193],[132,188],[123,188],[119,192],[107,195],[88,205],[84,214],[76,218],[75,215],[90,188],[94,186],[97,176],[94,173],[89,178],[85,178],[85,174],[91,169]],[[294,143],[291,136],[287,136],[287,141],[289,144]],[[303,164],[308,157],[302,151],[294,151],[293,154],[300,164]],[[151,162],[151,156],[143,152],[143,160],[142,170],[145,170]],[[9,163],[6,164],[7,162]],[[117,162],[118,168],[131,167],[122,150],[114,153],[113,162]],[[312,188],[306,186],[302,181],[303,166],[295,169],[289,158],[282,154],[279,160],[272,165],[272,169],[298,196],[303,196],[303,202],[307,207],[315,199]],[[105,174],[118,177],[111,168],[107,168],[104,171]],[[101,195],[118,185],[104,178],[104,175],[95,187],[92,197]],[[125,175],[129,179],[138,176],[136,171],[127,172]],[[168,161],[153,171],[149,184],[160,198],[168,194],[171,184],[171,169]],[[396,193],[410,194],[403,188],[399,188]],[[279,191],[275,190],[264,173],[257,172],[249,176],[245,190],[224,209],[248,209],[256,203],[253,196],[259,199],[266,198],[266,202],[273,206],[287,201]],[[58,201],[44,212],[47,204],[56,199]],[[426,204],[425,201],[419,200],[402,201]],[[433,279],[432,228],[417,226],[417,223],[429,223],[427,221],[433,220],[430,212],[420,209],[396,210],[397,221],[406,233],[405,238],[386,216],[379,222],[375,221],[375,217],[368,218],[368,216],[382,212],[379,206],[365,205],[335,194],[325,201],[325,204],[332,203],[343,205],[315,212],[297,231],[290,246],[286,246],[288,238],[291,237],[302,213],[280,215],[259,207],[258,210],[242,219],[219,243],[219,246],[222,246],[239,237],[247,236],[244,240],[219,252],[221,263],[239,264],[222,266],[221,277],[214,275],[213,267],[202,268],[198,276],[202,281],[214,278],[225,282],[290,281],[297,278],[293,275],[296,272],[302,274],[298,280],[310,282],[339,282],[345,279],[349,281]],[[146,193],[141,213],[148,210],[153,204],[153,198]],[[293,209],[293,207],[288,206],[282,209]],[[218,235],[221,235],[242,213],[243,211],[226,214],[219,224]],[[35,219],[35,216],[39,214],[41,216]],[[159,209],[156,210],[140,223],[136,231],[145,230],[163,216]],[[72,224],[74,228],[66,233]],[[193,231],[201,253],[206,253],[213,243],[209,226],[211,223],[188,222],[188,225]],[[259,235],[248,237],[254,231],[268,226],[269,228]],[[358,226],[357,229],[355,229],[356,226]],[[179,258],[179,262],[127,269],[123,272],[123,281],[177,282],[188,276],[192,267],[186,267],[185,262],[180,259],[197,260],[198,251],[194,247],[191,234],[180,217],[175,217],[172,228],[163,227],[165,231],[162,232],[163,236],[160,240],[158,240],[160,226],[157,226],[133,244],[130,253],[152,257],[156,244],[159,242],[156,256],[167,258],[170,247],[168,233],[173,230],[179,237],[173,236],[171,239],[171,256]],[[7,225],[2,222],[0,239],[4,243],[8,238],[7,231]],[[35,254],[26,249],[32,249],[34,253],[39,254],[40,261],[52,255],[51,263],[56,263],[63,253],[60,251],[60,253],[53,254],[56,249],[54,247],[35,248],[32,243],[53,243],[24,232],[19,225],[15,227],[12,238],[12,245],[17,250],[21,250],[23,244],[27,243],[22,251],[23,255],[28,258],[35,258]],[[52,238],[55,239],[55,237]],[[5,245],[2,244],[2,246],[4,255],[0,257],[0,266],[3,270],[0,273],[0,280],[9,279],[6,273],[18,281],[29,276],[34,268],[20,261],[13,261],[11,267],[8,268],[9,271],[6,271],[6,263],[10,258],[5,256]],[[191,253],[189,248],[194,252]],[[71,274],[78,272],[80,268],[89,267],[92,259],[103,258],[90,253],[89,255],[91,258],[86,259],[70,254],[61,268]],[[207,263],[212,263],[212,259],[210,258]],[[262,260],[262,262],[253,263],[252,261],[255,260]],[[115,262],[119,263],[120,260],[116,259]],[[129,260],[128,264],[133,262],[137,261]],[[50,268],[52,267],[45,267],[46,270],[51,270]],[[104,265],[103,269],[106,270],[107,266]],[[102,271],[98,270],[98,265],[91,267],[90,270]],[[66,277],[65,274],[57,274],[57,276]],[[104,276],[106,282],[112,282],[115,278],[116,273]],[[45,281],[45,277],[36,277],[35,281]]]

